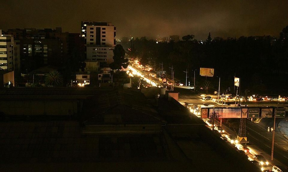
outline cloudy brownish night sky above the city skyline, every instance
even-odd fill
[[[112,22],[116,36],[279,37],[287,0],[0,0],[0,29],[56,28],[80,33],[81,21]]]

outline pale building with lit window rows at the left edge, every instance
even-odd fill
[[[13,35],[3,35],[0,30],[0,70],[20,70],[20,48],[16,45]]]

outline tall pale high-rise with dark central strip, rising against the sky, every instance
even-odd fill
[[[110,22],[81,22],[81,38],[85,44],[86,60],[98,61],[100,66],[113,62],[116,27]]]

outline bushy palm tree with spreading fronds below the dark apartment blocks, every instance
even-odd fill
[[[62,86],[63,77],[58,71],[49,71],[45,74],[46,86]]]

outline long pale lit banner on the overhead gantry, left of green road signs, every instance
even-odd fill
[[[241,118],[242,109],[240,108],[213,108],[209,109],[209,115],[218,113],[219,118]]]

